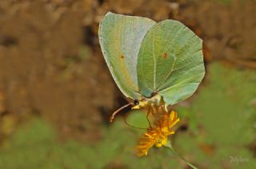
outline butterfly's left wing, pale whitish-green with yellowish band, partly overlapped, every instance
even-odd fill
[[[142,17],[107,13],[98,29],[106,64],[126,97],[140,99],[137,78],[138,50],[155,22]]]

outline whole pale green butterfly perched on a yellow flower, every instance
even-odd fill
[[[205,75],[202,39],[181,22],[109,12],[98,37],[115,83],[134,100],[122,108],[132,105],[154,113],[191,96]]]

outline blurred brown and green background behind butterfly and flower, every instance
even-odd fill
[[[106,12],[181,21],[204,40],[206,77],[173,108],[174,147],[199,168],[256,168],[256,1],[1,0],[0,168],[189,168],[166,148],[138,158],[142,111],[106,67]]]

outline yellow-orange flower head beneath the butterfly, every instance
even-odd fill
[[[177,112],[171,111],[169,115],[165,108],[162,109],[162,112],[158,112],[155,118],[154,127],[149,128],[139,140],[136,147],[138,156],[147,155],[147,151],[154,145],[156,147],[166,145],[167,137],[174,134],[172,127],[179,121]]]

